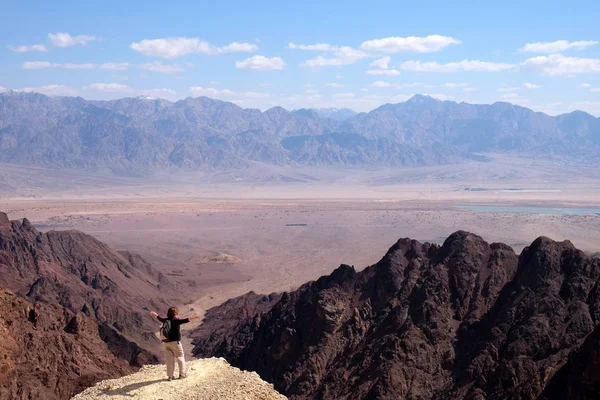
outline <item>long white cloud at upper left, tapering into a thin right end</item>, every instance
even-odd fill
[[[250,53],[258,46],[250,43],[233,42],[223,47],[217,47],[205,40],[188,37],[168,37],[162,39],[144,39],[131,43],[132,50],[146,56],[175,58],[187,54],[217,55],[225,53]]]

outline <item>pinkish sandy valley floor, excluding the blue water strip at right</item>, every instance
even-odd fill
[[[27,217],[41,230],[78,229],[117,250],[140,253],[190,286],[194,298],[182,300],[188,312],[202,312],[250,290],[292,289],[341,263],[362,269],[401,237],[439,243],[462,229],[517,251],[541,235],[600,251],[600,188],[595,182],[554,189],[529,185],[526,190],[506,184],[485,190],[402,184],[354,193],[335,185],[253,186],[223,198],[216,197],[218,191],[210,192],[213,197],[183,192],[128,196],[109,188],[4,197],[0,204],[10,218]],[[269,199],[261,198],[265,193]],[[590,211],[567,215],[460,208],[470,204]]]

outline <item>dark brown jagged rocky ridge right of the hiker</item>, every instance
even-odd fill
[[[292,399],[597,398],[599,278],[600,260],[569,242],[539,238],[518,256],[466,232],[401,239],[274,305],[247,295],[211,310],[213,325],[235,304],[256,315],[198,332],[195,349]]]

